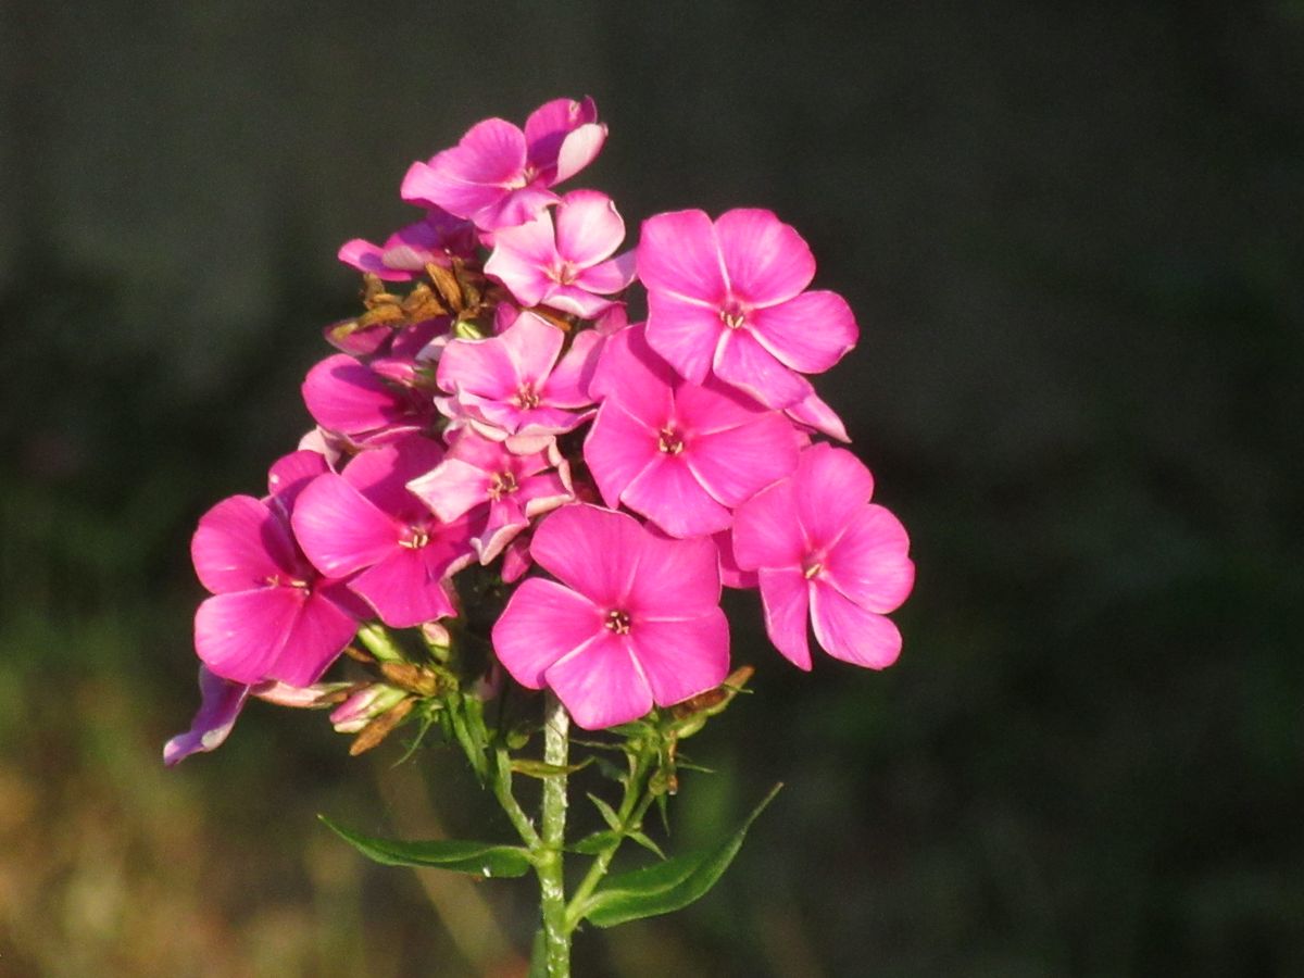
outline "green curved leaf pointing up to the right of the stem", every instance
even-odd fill
[[[627,921],[681,910],[705,896],[729,868],[751,823],[773,801],[780,788],[781,784],[775,785],[760,805],[752,808],[742,827],[719,845],[608,876],[602,887],[585,901],[580,917],[599,927],[614,927]]]

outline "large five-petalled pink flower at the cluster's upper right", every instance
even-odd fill
[[[803,291],[815,258],[801,235],[768,210],[700,210],[643,222],[638,274],[648,292],[648,343],[683,377],[715,374],[763,404],[786,408],[858,336],[835,292]]]

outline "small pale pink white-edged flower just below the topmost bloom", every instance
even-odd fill
[[[615,203],[596,190],[572,190],[556,207],[494,235],[485,274],[522,305],[548,305],[592,319],[634,278],[634,252],[612,258],[625,240]]]

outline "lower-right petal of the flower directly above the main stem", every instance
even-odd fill
[[[729,622],[719,608],[696,618],[638,621],[630,638],[659,707],[713,690],[729,675]]]

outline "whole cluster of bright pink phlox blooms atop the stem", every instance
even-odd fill
[[[608,196],[553,189],[605,138],[591,99],[479,123],[409,168],[420,220],[340,248],[364,312],[326,329],[316,428],[194,535],[203,705],[168,763],[250,694],[348,732],[391,715],[411,677],[322,682],[378,627],[445,657],[479,635],[482,695],[501,666],[587,729],[724,682],[721,585],[759,588],[801,669],[808,623],[831,656],[895,661],[909,541],[820,441],[848,436],[808,379],[855,344],[850,306],[768,210],[659,214],[626,243]]]

